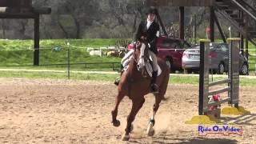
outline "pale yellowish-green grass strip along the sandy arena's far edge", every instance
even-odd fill
[[[85,74],[85,73],[70,73],[70,79],[73,80],[92,80],[92,81],[107,81],[114,82],[114,79],[119,74]],[[67,72],[24,72],[24,71],[1,71],[0,77],[4,78],[53,78],[67,79]],[[214,81],[224,79],[214,76]],[[211,76],[209,78],[211,82]],[[170,75],[169,84],[192,84],[198,86],[199,77],[197,75]],[[255,78],[240,78],[240,86],[256,86]]]

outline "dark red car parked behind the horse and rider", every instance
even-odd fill
[[[128,50],[133,47],[130,44]],[[158,57],[166,60],[166,64],[171,67],[171,72],[182,70],[182,54],[190,47],[188,42],[178,38],[161,36],[157,41]]]

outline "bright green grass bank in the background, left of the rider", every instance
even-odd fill
[[[85,47],[115,46],[126,39],[70,39],[70,63],[78,62],[120,62],[121,58],[90,56]],[[66,39],[41,40],[39,62],[41,65],[67,63]],[[62,50],[55,51],[54,47]],[[0,40],[0,66],[33,65],[34,50],[32,40]],[[77,66],[80,68],[80,66]],[[97,66],[95,66],[97,68]],[[109,66],[105,66],[109,67]],[[105,68],[104,66],[102,68]],[[98,66],[98,68],[101,68]]]

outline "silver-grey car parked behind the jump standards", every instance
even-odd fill
[[[223,74],[228,71],[228,44],[210,42],[210,70],[214,74]],[[200,46],[194,46],[185,50],[182,56],[182,68],[186,73],[198,72],[200,65]],[[239,72],[248,73],[248,61],[245,56],[239,54]]]

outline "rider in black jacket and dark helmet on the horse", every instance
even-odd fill
[[[142,21],[139,26],[138,30],[135,35],[135,42],[140,41],[142,36],[146,37],[148,42],[148,46],[150,48],[149,54],[153,60],[153,73],[152,79],[150,82],[150,91],[151,92],[158,92],[158,85],[156,84],[156,79],[158,76],[158,62],[156,54],[158,50],[156,48],[157,38],[159,37],[159,25],[155,22],[156,14],[158,13],[157,9],[154,7],[150,7],[148,12],[146,13],[146,21]],[[118,82],[114,82],[118,85]]]

